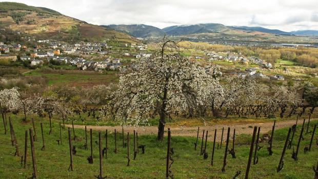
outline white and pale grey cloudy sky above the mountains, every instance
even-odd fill
[[[0,0],[2,1],[2,0]],[[7,0],[8,1],[8,0]],[[318,30],[317,0],[17,0],[96,25],[221,23],[284,31]]]

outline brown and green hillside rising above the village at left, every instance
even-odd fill
[[[91,25],[48,8],[21,3],[0,3],[0,28],[36,38],[50,37],[63,41],[136,41],[134,37],[114,29]],[[1,33],[6,36],[6,33]]]

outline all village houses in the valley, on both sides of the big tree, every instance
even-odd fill
[[[13,62],[22,62],[32,69],[44,64],[72,66],[78,70],[118,70],[125,71],[127,67],[142,57],[150,57],[153,51],[148,50],[147,44],[124,44],[121,49],[115,49],[106,42],[78,42],[75,44],[56,42],[50,39],[33,41],[34,46],[20,44],[4,44],[0,42],[0,59],[9,59]],[[273,69],[273,65],[254,56],[243,56],[235,52],[205,51],[202,56],[191,56],[197,61],[253,64],[253,68],[232,70],[229,75],[245,77],[247,75],[262,78],[284,80],[284,76],[276,74],[267,76],[257,72],[259,69]],[[287,69],[285,69],[287,71]]]

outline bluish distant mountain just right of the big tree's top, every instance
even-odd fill
[[[212,33],[224,32],[230,30],[227,26],[222,24],[196,24],[196,25],[181,25],[170,26],[162,29],[168,35],[189,35],[195,33]]]

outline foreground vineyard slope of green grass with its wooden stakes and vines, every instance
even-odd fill
[[[212,137],[206,138],[208,132],[213,134],[214,131],[203,131],[204,127],[198,129],[197,137],[172,136],[169,177],[235,178],[234,175],[237,174],[237,178],[247,178],[246,170],[249,163],[248,178],[313,178],[313,166],[316,165],[318,156],[318,144],[314,132],[318,123],[315,120],[308,122],[308,118],[305,123],[299,120],[296,127],[277,129],[273,133],[262,131],[261,127],[261,132],[256,134],[255,127],[252,136],[234,135],[234,129],[225,128],[223,141],[214,143]],[[155,135],[145,135],[142,130],[135,131],[135,135],[134,133],[127,135],[125,127],[116,133],[108,130],[107,135],[106,131],[92,131],[90,136],[89,128],[86,132],[82,129],[67,128],[62,120],[52,120],[52,129],[50,129],[48,118],[35,117],[34,120],[25,122],[19,115],[8,116],[7,123],[10,129],[6,135],[4,133],[0,135],[2,151],[0,175],[3,178],[32,178],[32,173],[36,173],[36,178],[95,178],[100,176],[100,161],[103,177],[165,178],[166,176],[167,137],[164,141],[157,141]],[[250,130],[252,131],[253,128]],[[32,167],[30,132],[34,136],[35,171]],[[98,134],[101,135],[101,141]],[[255,139],[256,135],[260,140]],[[287,136],[289,139],[286,145]],[[26,154],[25,145],[27,145]],[[101,145],[102,160],[100,160],[99,145]],[[254,146],[257,146],[257,150],[254,150]],[[284,162],[280,163],[284,148],[286,150],[283,156]],[[251,151],[252,155],[249,155]],[[70,154],[72,154],[72,167],[70,167]],[[292,156],[294,158],[296,156],[297,160]],[[277,168],[280,168],[279,172]]]

